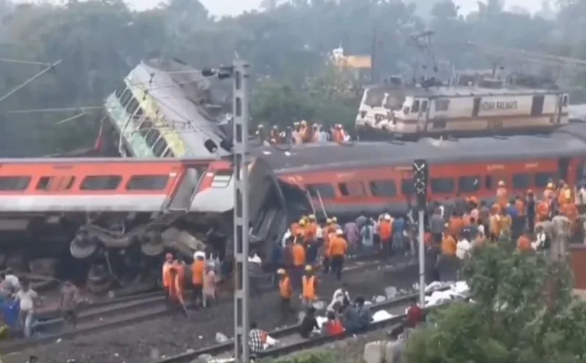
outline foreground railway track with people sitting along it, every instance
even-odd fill
[[[382,327],[400,323],[405,318],[404,315],[407,307],[412,302],[415,302],[418,297],[418,294],[409,294],[403,297],[398,297],[397,299],[386,300],[384,302],[370,305],[370,309],[373,312],[384,310],[390,313],[392,316],[394,316],[393,318],[373,323],[370,329],[381,329]],[[272,332],[269,332],[269,335],[273,339],[277,339],[279,341],[279,344],[275,348],[271,348],[260,354],[257,354],[257,357],[259,358],[279,357],[296,352],[298,350],[304,350],[308,348],[313,348],[315,346],[321,346],[325,343],[329,343],[330,341],[335,341],[336,339],[343,338],[343,336],[318,336],[313,339],[303,339],[301,338],[301,336],[299,336],[299,325],[293,325],[290,327],[285,327],[283,329],[277,329]],[[211,346],[209,348],[203,348],[200,350],[182,353],[180,355],[175,355],[173,357],[165,357],[162,360],[158,360],[152,363],[190,363],[193,362],[193,360],[197,360],[197,358],[200,357],[200,355],[211,355],[214,357],[214,359],[227,360],[230,359],[230,357],[232,357],[233,349],[234,342],[231,339],[227,343],[222,343],[218,344],[217,346]]]

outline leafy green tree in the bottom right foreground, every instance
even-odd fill
[[[567,268],[553,267],[540,253],[486,246],[474,249],[463,275],[474,303],[433,313],[433,324],[407,345],[409,363],[585,361],[586,303],[572,297]],[[549,309],[553,279],[562,288]]]

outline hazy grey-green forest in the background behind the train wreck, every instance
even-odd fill
[[[3,156],[87,145],[99,127],[99,111],[86,110],[75,121],[61,124],[80,111],[9,111],[101,105],[120,78],[149,57],[179,57],[204,67],[228,64],[237,54],[250,61],[262,81],[254,88],[255,120],[288,124],[300,118],[352,121],[356,97],[336,86],[345,75],[325,61],[340,45],[347,54],[375,50],[377,79],[393,73],[410,77],[416,59],[431,58],[408,41],[414,31],[426,28],[437,31],[433,58],[456,68],[487,67],[497,60],[461,47],[469,41],[571,57],[585,52],[580,37],[573,36],[586,27],[585,0],[560,0],[553,4],[559,13],[545,6],[533,16],[519,9],[506,12],[500,0],[479,2],[478,10],[467,16],[458,14],[451,0],[263,3],[260,12],[218,19],[197,0],[170,0],[142,12],[121,0],[70,0],[61,6],[15,6],[0,0],[0,58],[63,59],[54,70],[0,101]],[[0,61],[0,98],[40,69]]]

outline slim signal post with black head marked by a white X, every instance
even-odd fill
[[[426,247],[425,247],[425,213],[427,209],[427,186],[429,167],[427,161],[416,159],[413,161],[413,183],[417,209],[419,212],[419,304],[421,309],[426,304]]]

